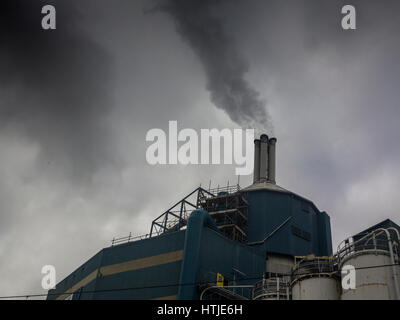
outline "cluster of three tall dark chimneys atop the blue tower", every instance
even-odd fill
[[[253,183],[276,183],[276,138],[269,139],[266,134],[254,140]]]

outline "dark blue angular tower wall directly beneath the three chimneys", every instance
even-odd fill
[[[248,241],[265,239],[292,217],[266,242],[268,252],[303,256],[332,254],[329,216],[292,193],[258,190],[247,192]]]

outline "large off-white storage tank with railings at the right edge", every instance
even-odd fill
[[[398,235],[397,235],[398,239]],[[398,240],[389,229],[377,229],[354,241],[345,240],[338,249],[340,270],[355,268],[355,289],[343,289],[342,300],[398,300],[400,262]],[[397,265],[396,265],[397,264]],[[342,273],[342,278],[347,272]]]

